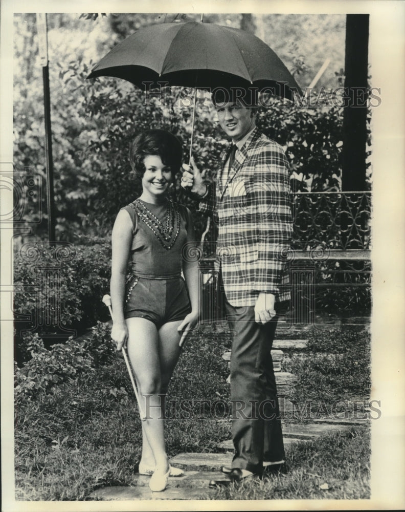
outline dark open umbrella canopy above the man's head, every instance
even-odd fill
[[[139,29],[113,48],[87,78],[114,76],[143,88],[273,88],[292,99],[301,90],[281,59],[261,39],[210,23],[162,23]]]

